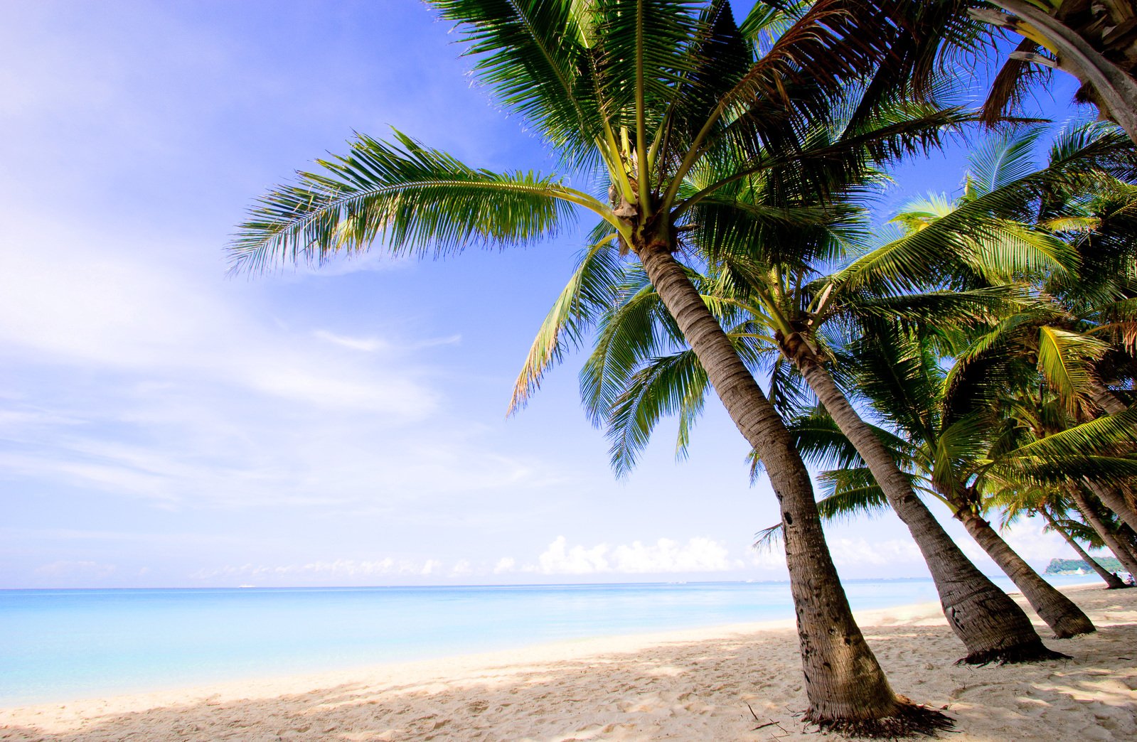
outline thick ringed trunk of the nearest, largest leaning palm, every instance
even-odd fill
[[[781,507],[786,561],[797,611],[807,718],[827,726],[904,719],[927,711],[893,692],[853,619],[821,530],[808,470],[773,406],[739,359],[666,244],[637,249],[661,300],[679,324],[719,399],[762,457]],[[931,712],[938,715],[938,712]],[[943,725],[943,715],[918,724]]]

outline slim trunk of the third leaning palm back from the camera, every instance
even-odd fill
[[[1031,569],[1030,565],[1015,553],[1011,544],[1004,541],[1003,536],[979,514],[969,508],[961,508],[956,517],[976,543],[984,548],[987,556],[1022,591],[1023,597],[1046,625],[1054,630],[1055,639],[1070,639],[1097,631],[1081,608]]]

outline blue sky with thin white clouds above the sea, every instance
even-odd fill
[[[580,410],[579,357],[505,418],[575,232],[226,277],[250,201],[354,131],[551,169],[428,8],[5,16],[0,587],[785,578],[749,548],[777,508],[716,403],[687,461],[664,425],[622,482]],[[961,151],[906,166],[882,203],[954,189]],[[829,534],[846,577],[927,574],[890,515]],[[1036,565],[1072,556],[1039,524],[1011,540]]]

